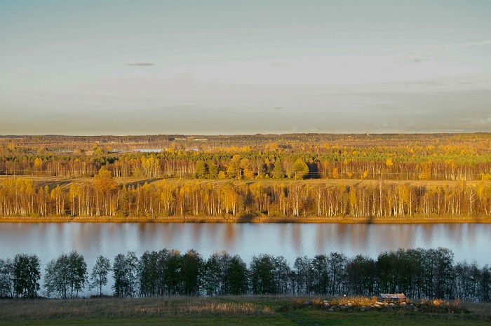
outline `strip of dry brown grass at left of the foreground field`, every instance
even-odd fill
[[[269,316],[272,313],[269,306],[199,297],[0,300],[0,320],[163,317],[176,314],[239,317]]]

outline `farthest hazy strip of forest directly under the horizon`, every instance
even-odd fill
[[[94,147],[114,149],[227,149],[250,147],[255,151],[288,149],[292,151],[322,151],[323,148],[357,147],[397,149],[408,147],[414,154],[425,153],[430,147],[437,151],[468,151],[468,154],[489,153],[490,133],[464,134],[327,134],[297,133],[269,135],[133,135],[133,136],[0,136],[0,145],[9,149],[36,151],[90,151]],[[326,146],[328,145],[328,146]]]

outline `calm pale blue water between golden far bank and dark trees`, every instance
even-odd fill
[[[342,252],[376,258],[386,250],[447,247],[455,262],[491,264],[491,224],[119,224],[0,223],[0,258],[37,254],[42,266],[76,250],[89,269],[98,255],[194,249],[208,258],[226,250],[250,262],[257,254],[296,257]]]

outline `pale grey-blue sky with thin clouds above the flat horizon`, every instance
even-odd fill
[[[0,0],[0,135],[491,132],[491,1]]]

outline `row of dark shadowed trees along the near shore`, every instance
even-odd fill
[[[455,263],[445,248],[387,251],[377,259],[342,253],[285,258],[254,256],[247,265],[238,255],[216,252],[208,259],[189,250],[117,254],[113,262],[97,258],[90,276],[83,256],[61,254],[43,274],[46,297],[61,299],[107,295],[112,274],[115,297],[220,296],[233,294],[316,294],[328,296],[405,293],[407,297],[491,300],[491,268],[475,262]],[[38,297],[41,270],[35,254],[0,259],[0,297]]]

